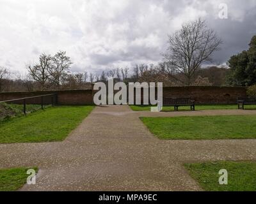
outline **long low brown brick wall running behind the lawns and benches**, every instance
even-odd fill
[[[0,92],[0,101],[8,99],[58,94],[59,105],[91,105],[93,104],[92,90],[73,91],[33,91],[33,92]],[[143,97],[143,91],[141,91]],[[191,97],[197,104],[236,103],[237,97],[246,97],[245,87],[163,87],[164,98]],[[143,101],[143,99],[142,99]]]

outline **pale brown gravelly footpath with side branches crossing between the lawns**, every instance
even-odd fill
[[[97,106],[64,142],[0,144],[0,168],[38,166],[22,191],[200,191],[183,163],[256,160],[256,140],[159,140],[140,116],[242,115],[256,111],[132,112]]]

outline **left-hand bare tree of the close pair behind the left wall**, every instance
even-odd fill
[[[51,55],[41,54],[39,64],[27,66],[29,75],[40,84],[41,90],[45,90],[45,85],[49,78],[48,70],[51,68],[51,59]]]

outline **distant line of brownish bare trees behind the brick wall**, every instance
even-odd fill
[[[60,84],[55,84],[51,80],[51,76],[47,77],[45,83],[36,81],[31,75],[24,79],[17,77],[11,78],[8,69],[1,68],[4,72],[3,78],[0,79],[0,90],[2,92],[12,91],[42,91],[42,90],[71,90],[71,89],[90,89],[95,82],[108,82],[108,78],[114,78],[115,82],[163,82],[164,86],[182,86],[185,85],[180,80],[182,75],[178,73],[175,78],[166,74],[161,65],[153,66],[152,64],[138,64],[134,68],[116,68],[109,69],[109,71],[102,71],[102,73],[63,73]],[[218,68],[210,66],[207,68],[200,68],[196,71],[193,77],[195,86],[223,86],[226,83],[230,69]],[[177,80],[179,78],[180,80]]]

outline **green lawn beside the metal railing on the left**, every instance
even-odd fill
[[[0,126],[0,143],[64,140],[93,106],[55,106],[15,117]]]

